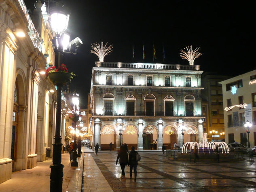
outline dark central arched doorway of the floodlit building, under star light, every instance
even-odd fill
[[[158,130],[153,125],[143,129],[143,149],[157,150]]]

